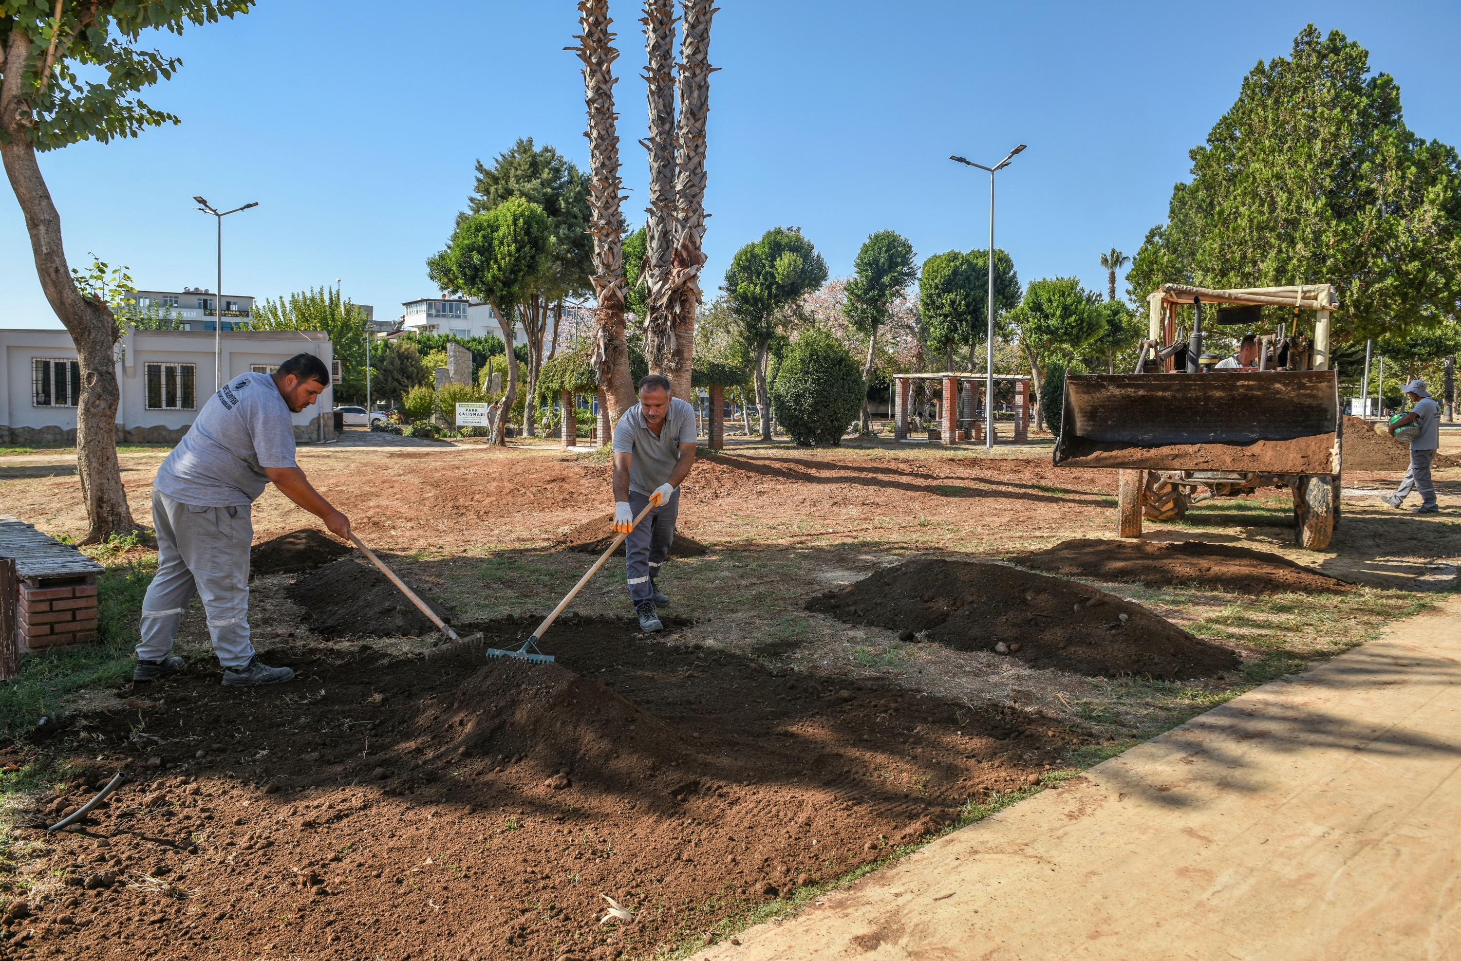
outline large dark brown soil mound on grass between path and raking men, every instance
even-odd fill
[[[1178,681],[1239,663],[1232,650],[1140,605],[1004,564],[907,561],[812,597],[806,609],[847,624],[922,632],[957,650],[995,650],[1002,643],[1031,667],[1083,675]]]

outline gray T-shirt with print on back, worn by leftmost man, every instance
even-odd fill
[[[269,483],[264,467],[294,467],[294,421],[269,374],[244,374],[207,399],[153,488],[194,507],[247,507]]]

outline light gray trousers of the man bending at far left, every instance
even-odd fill
[[[250,508],[193,507],[153,491],[152,526],[158,574],[142,599],[137,659],[161,660],[171,653],[183,612],[197,593],[218,660],[224,667],[243,667],[254,656],[248,640]]]

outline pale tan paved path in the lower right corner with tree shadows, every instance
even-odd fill
[[[1461,958],[1461,597],[704,958]]]

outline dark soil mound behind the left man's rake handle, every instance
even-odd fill
[[[304,608],[305,621],[326,637],[421,637],[437,631],[437,625],[364,558],[340,558],[316,568],[289,584],[285,594]],[[419,590],[416,596],[450,624],[450,608]]]

